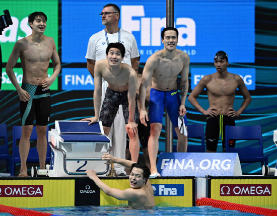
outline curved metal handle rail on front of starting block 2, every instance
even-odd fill
[[[81,173],[81,172],[69,172],[66,169],[66,161],[102,161],[101,158],[66,158],[66,153],[62,149],[58,149],[53,146],[51,141],[49,141],[49,144],[52,146],[53,149],[59,151],[63,155],[63,170],[68,175],[87,175],[87,173]],[[109,150],[108,150],[109,151]],[[104,172],[96,172],[97,175],[104,175],[109,171],[109,164],[106,164],[106,170]]]

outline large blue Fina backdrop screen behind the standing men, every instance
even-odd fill
[[[87,62],[89,38],[104,29],[101,13],[106,1],[61,0],[62,62]],[[114,1],[120,10],[119,27],[135,36],[141,62],[163,49],[161,31],[166,27],[166,1]],[[254,62],[255,1],[174,1],[178,49],[191,62],[213,62],[224,50],[231,62]],[[116,41],[117,42],[117,41]]]

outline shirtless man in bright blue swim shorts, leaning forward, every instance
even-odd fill
[[[178,43],[178,30],[173,27],[162,31],[164,49],[155,52],[146,62],[142,83],[140,86],[140,119],[147,126],[148,120],[145,110],[147,87],[152,78],[150,92],[149,121],[151,125],[148,141],[148,151],[151,164],[151,176],[160,176],[157,171],[156,160],[159,150],[159,136],[162,129],[164,106],[178,136],[177,152],[186,152],[187,136],[181,134],[178,128],[178,117],[184,117],[187,125],[185,100],[188,90],[189,56],[176,49]],[[181,100],[177,91],[177,77],[181,76]]]

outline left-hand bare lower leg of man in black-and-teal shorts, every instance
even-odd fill
[[[20,154],[20,177],[27,177],[27,158],[30,150],[30,136],[33,130],[33,125],[22,125],[22,134],[19,141]]]

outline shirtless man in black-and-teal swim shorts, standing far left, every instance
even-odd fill
[[[22,118],[22,135],[19,142],[21,160],[21,177],[27,176],[27,157],[30,149],[30,136],[36,114],[37,151],[39,167],[45,169],[47,152],[46,129],[50,117],[51,100],[49,87],[60,71],[60,61],[52,37],[44,35],[47,17],[42,12],[29,15],[28,22],[32,34],[18,40],[6,66],[6,72],[20,97],[20,114]],[[13,68],[21,59],[23,79],[22,86],[17,82]],[[47,69],[50,59],[53,62],[53,75],[48,78]]]

